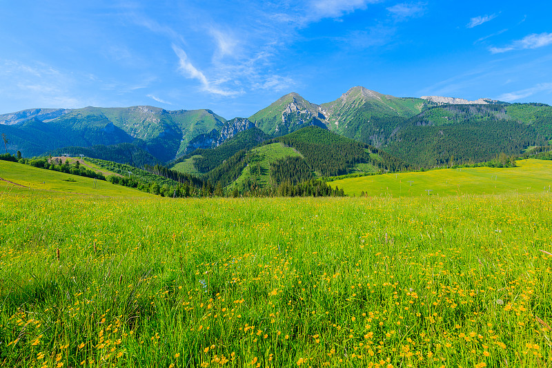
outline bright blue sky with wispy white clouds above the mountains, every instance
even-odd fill
[[[0,113],[152,105],[248,117],[353,86],[552,104],[551,1],[0,0]]]

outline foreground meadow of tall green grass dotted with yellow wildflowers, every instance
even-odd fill
[[[552,365],[550,193],[0,193],[1,367]]]

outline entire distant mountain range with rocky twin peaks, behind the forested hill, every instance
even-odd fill
[[[8,137],[12,153],[30,157],[86,148],[85,154],[92,157],[105,159],[110,154],[119,162],[134,163],[174,162],[252,128],[280,137],[305,126],[331,130],[409,164],[430,167],[451,159],[477,162],[501,152],[513,155],[546,144],[552,138],[552,107],[491,99],[393,97],[357,86],[319,105],[289,93],[250,117],[230,120],[208,109],[169,111],[152,106],[37,108],[0,115],[0,133]]]

